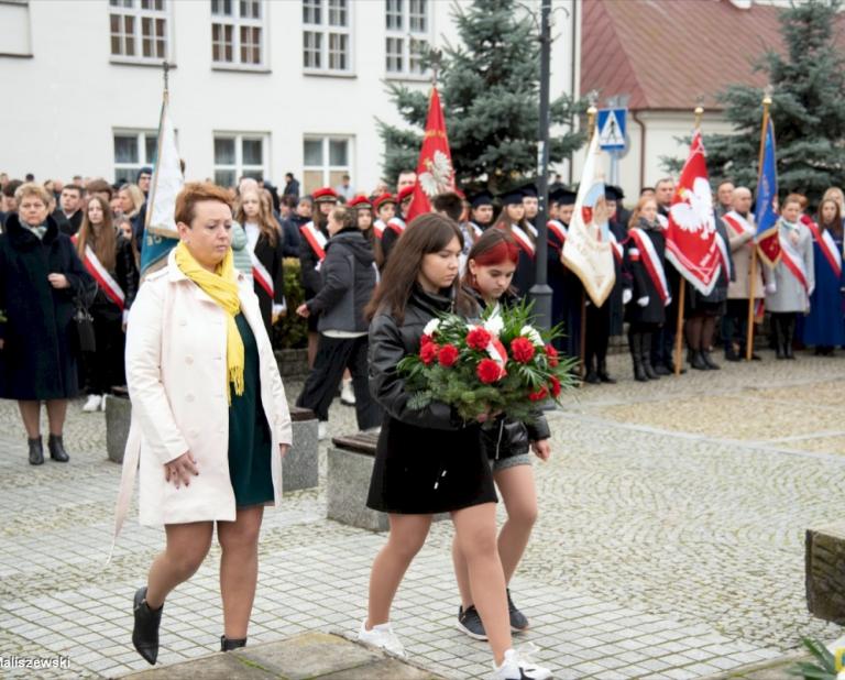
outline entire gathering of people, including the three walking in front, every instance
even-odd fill
[[[293,175],[282,196],[253,178],[230,189],[190,183],[176,201],[179,239],[164,267],[141,283],[151,177],[142,168],[135,183],[116,187],[0,175],[0,396],[19,403],[30,463],[44,462],[42,402],[50,456],[67,462],[62,429],[80,385],[86,412],[101,408],[103,395],[121,385],[132,398],[118,526],[138,469],[141,522],[164,525],[167,536],[135,594],[138,651],[155,662],[165,599],[206,558],[215,523],[221,648],[245,645],[263,507],[279,502],[281,459],[290,446],[271,329],[281,315],[296,314],[308,326],[311,365],[297,405],[314,410],[325,436],[340,392],[354,405],[359,428],[378,432],[367,505],[388,514],[391,530],[373,563],[359,639],[404,654],[389,623],[392,602],[432,516],[448,512],[458,627],[490,643],[493,678],[550,677],[513,649],[512,633],[526,629],[528,618],[508,589],[537,515],[530,452],[551,454],[548,425],[539,412],[531,424],[491,415],[492,427],[482,429],[442,404],[414,409],[396,369],[419,351],[422,329],[439,312],[470,319],[528,294],[540,234],[536,186],[498,196],[449,191],[432,198],[431,212],[408,220],[410,171],[394,191],[380,186],[371,195],[355,194],[349,177],[308,196],[298,195]],[[766,263],[754,260],[751,191],[722,183],[714,223],[727,266],[707,295],[666,259],[674,190],[671,178],[661,179],[628,211],[623,191],[605,188],[616,277],[597,306],[563,259],[575,194],[551,187],[544,266],[552,321],[564,329],[556,342],[581,359],[585,383],[615,382],[608,342],[625,325],[633,375],[641,382],[676,373],[676,362],[718,370],[716,349],[731,362],[759,360],[746,344],[749,309],[751,322],[769,315],[778,359],[794,359],[795,347],[830,355],[845,344],[841,189],[828,189],[814,211],[804,196],[786,196],[777,223],[782,256]],[[305,300],[288,309],[284,259],[294,256]],[[685,357],[674,353],[681,298]],[[183,327],[191,332],[174,332]],[[507,508],[501,533],[496,487]]]

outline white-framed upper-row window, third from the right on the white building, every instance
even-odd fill
[[[211,61],[238,68],[264,65],[262,0],[211,0]]]

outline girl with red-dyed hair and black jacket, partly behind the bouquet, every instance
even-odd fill
[[[467,256],[464,285],[481,307],[497,307],[515,301],[511,282],[519,260],[514,240],[500,229],[491,229],[475,242]],[[534,486],[529,447],[540,460],[551,456],[549,426],[538,412],[533,424],[500,416],[495,427],[483,429],[482,447],[493,468],[493,480],[507,508],[507,520],[498,536],[498,556],[509,582],[531,535],[537,519],[537,492]],[[459,542],[452,544],[452,560],[461,608],[458,629],[475,639],[487,639],[478,610],[472,604],[467,560]],[[528,619],[516,608],[507,591],[511,629],[525,630]]]

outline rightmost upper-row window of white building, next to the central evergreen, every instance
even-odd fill
[[[428,51],[429,0],[385,0],[385,68],[387,74],[421,76]]]

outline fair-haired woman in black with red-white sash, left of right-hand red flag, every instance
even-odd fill
[[[634,379],[658,380],[651,365],[651,336],[666,322],[666,306],[672,301],[666,281],[666,237],[657,220],[657,201],[640,198],[630,217],[625,265],[633,279],[632,300],[626,309],[628,347]]]

